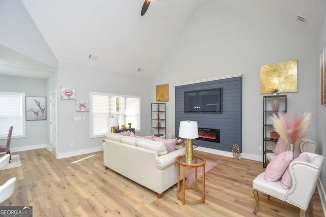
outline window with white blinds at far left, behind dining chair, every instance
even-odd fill
[[[0,139],[7,139],[10,126],[12,138],[26,137],[25,94],[0,91]]]

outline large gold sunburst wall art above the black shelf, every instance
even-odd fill
[[[260,67],[260,94],[297,92],[297,60],[269,64]]]

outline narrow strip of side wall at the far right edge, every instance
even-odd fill
[[[320,34],[317,40],[317,48],[316,48],[316,107],[317,107],[317,112],[316,116],[317,118],[317,131],[316,131],[316,141],[318,144],[318,153],[322,154],[323,156],[326,156],[326,134],[325,134],[325,129],[326,129],[326,106],[320,104],[320,62],[319,62],[319,56],[320,56],[320,51],[324,44],[326,43],[326,15],[324,16],[323,23],[321,25],[320,29]],[[324,51],[324,54],[326,54],[326,51]],[[323,167],[321,170],[320,174],[320,183],[322,185],[323,189],[323,195],[320,195],[322,204],[324,204],[324,210],[326,209],[326,195],[325,195],[325,190],[326,190],[326,160],[323,162]]]

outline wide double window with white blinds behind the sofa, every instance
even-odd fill
[[[119,126],[132,123],[135,131],[141,130],[141,97],[90,92],[90,137],[102,137],[109,131],[108,117],[118,117]]]

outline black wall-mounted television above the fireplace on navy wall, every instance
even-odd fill
[[[184,92],[185,113],[222,113],[222,87]]]

